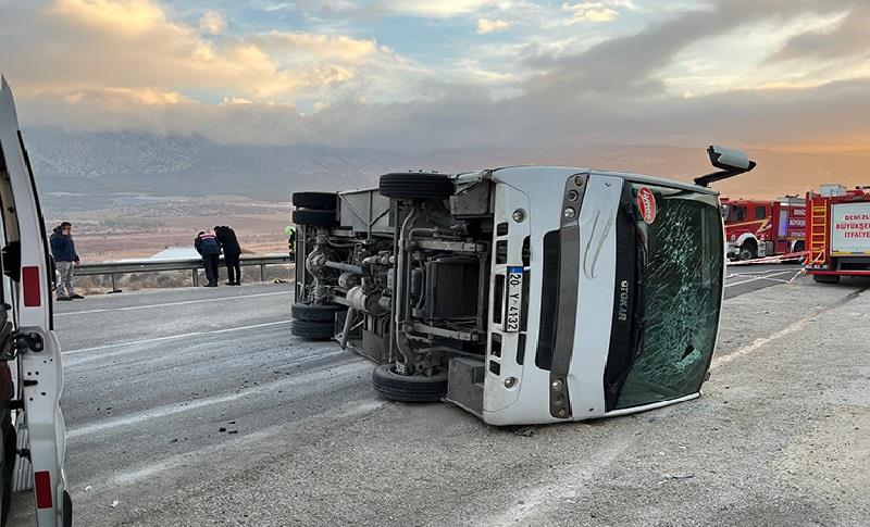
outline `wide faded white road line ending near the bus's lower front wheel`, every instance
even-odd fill
[[[343,350],[336,351],[333,354],[346,353]],[[319,356],[311,356],[307,357],[302,362],[310,362],[315,359],[322,359],[323,356],[328,355],[319,355]],[[369,362],[363,362],[360,360],[359,362],[352,362],[349,364],[343,364],[340,366],[328,366],[326,368],[320,369],[312,374],[302,375],[298,377],[289,377],[289,378],[282,378],[265,385],[259,385],[256,387],[251,387],[245,390],[239,390],[236,393],[229,393],[226,396],[220,397],[210,397],[203,399],[196,399],[192,401],[185,401],[175,404],[166,404],[163,406],[157,406],[153,409],[148,409],[141,412],[134,412],[127,414],[124,417],[117,417],[113,419],[105,419],[99,421],[97,423],[92,423],[90,425],[85,425],[78,428],[67,429],[66,430],[66,439],[75,439],[80,436],[87,436],[89,434],[100,432],[104,430],[109,430],[112,428],[117,428],[121,426],[128,426],[135,425],[137,423],[141,423],[145,421],[151,419],[159,419],[163,417],[169,417],[170,415],[178,414],[182,412],[188,412],[190,410],[199,410],[206,406],[212,406],[214,404],[224,404],[233,401],[237,401],[239,399],[245,399],[247,397],[257,396],[260,393],[265,392],[274,392],[277,391],[279,388],[288,388],[296,385],[306,385],[306,386],[314,386],[319,390],[325,389],[326,386],[323,381],[328,380],[331,377],[338,377],[343,375],[355,375],[358,371],[362,369],[370,369],[372,366]]]

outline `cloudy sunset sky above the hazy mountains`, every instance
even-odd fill
[[[867,0],[0,0],[29,126],[870,150]]]

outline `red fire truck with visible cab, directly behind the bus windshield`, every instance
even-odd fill
[[[807,205],[803,198],[786,196],[773,201],[723,198],[728,255],[751,260],[804,251]]]

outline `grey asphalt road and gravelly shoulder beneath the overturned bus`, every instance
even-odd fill
[[[76,525],[860,525],[868,284],[797,273],[729,271],[700,400],[523,428],[380,399],[289,285],[60,304]]]

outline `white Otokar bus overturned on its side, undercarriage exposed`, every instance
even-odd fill
[[[297,192],[293,332],[382,365],[374,388],[486,423],[608,417],[699,396],[719,328],[713,180],[519,166]]]

